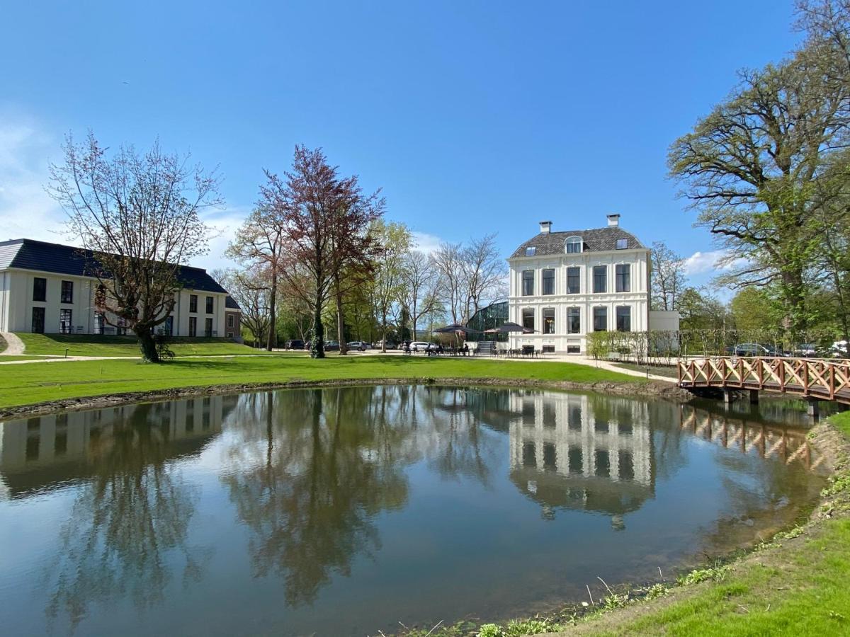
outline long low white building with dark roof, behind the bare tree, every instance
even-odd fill
[[[18,239],[0,242],[0,332],[121,334],[94,307],[98,279],[79,248]],[[181,266],[184,284],[161,331],[240,337],[240,309],[206,270]],[[116,324],[116,320],[110,321]]]

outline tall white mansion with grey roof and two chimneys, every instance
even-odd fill
[[[534,330],[512,334],[510,347],[584,353],[592,331],[678,330],[678,313],[649,310],[649,248],[620,228],[620,215],[569,232],[541,222],[507,262],[508,320]]]

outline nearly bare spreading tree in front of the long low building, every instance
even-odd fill
[[[99,283],[95,307],[107,324],[133,330],[142,358],[157,363],[154,330],[184,287],[180,264],[207,251],[200,212],[221,203],[218,178],[158,142],[144,154],[121,146],[109,157],[89,132],[82,144],[69,135],[64,150],[64,163],[50,166],[48,192],[87,251]]]

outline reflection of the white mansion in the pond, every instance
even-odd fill
[[[654,489],[644,403],[529,392],[511,396],[514,481],[541,504],[615,513],[634,510]]]

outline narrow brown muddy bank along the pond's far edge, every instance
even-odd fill
[[[43,403],[20,405],[0,409],[0,420],[26,418],[52,414],[59,411],[79,409],[104,409],[130,403],[150,403],[160,400],[175,400],[195,396],[212,396],[244,392],[262,392],[274,389],[300,389],[304,387],[345,387],[358,385],[451,385],[451,386],[499,386],[532,389],[558,389],[581,392],[615,394],[617,396],[660,397],[668,400],[685,401],[691,394],[667,382],[611,382],[577,383],[572,381],[535,381],[514,378],[357,378],[327,381],[287,381],[276,383],[234,383],[227,385],[175,387],[150,392],[124,392],[104,396],[63,398]]]

